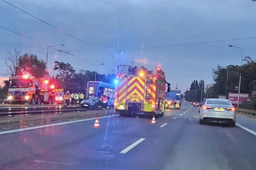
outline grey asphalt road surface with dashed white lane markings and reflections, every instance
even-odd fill
[[[156,124],[110,116],[99,119],[101,128],[92,128],[94,121],[0,135],[0,169],[256,169],[255,134],[238,126],[200,125],[198,108],[189,103],[181,110],[166,110]],[[244,116],[237,123],[255,124]]]

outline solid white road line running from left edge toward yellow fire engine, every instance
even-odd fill
[[[119,114],[118,114],[118,115],[112,115],[112,116],[99,117],[99,119],[102,119],[102,118],[109,118],[109,117],[114,117],[114,116],[119,116]],[[15,130],[2,131],[2,132],[0,132],[0,135],[9,134],[9,133],[14,133],[14,132],[22,132],[22,131],[25,131],[25,130],[32,130],[32,129],[37,129],[37,128],[44,128],[44,127],[52,127],[52,126],[58,126],[58,125],[65,125],[65,124],[76,123],[76,122],[82,122],[82,121],[93,120],[93,119],[96,119],[96,118],[82,119],[82,120],[73,120],[73,121],[68,121],[68,122],[53,123],[53,124],[42,125],[42,126],[37,126],[37,127],[27,127],[27,128],[15,129]]]

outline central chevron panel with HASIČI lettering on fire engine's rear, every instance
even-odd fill
[[[145,78],[128,77],[127,101],[143,102]]]

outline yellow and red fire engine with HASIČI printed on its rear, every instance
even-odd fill
[[[155,117],[165,112],[165,73],[156,67],[118,66],[114,108],[120,115],[145,114]]]

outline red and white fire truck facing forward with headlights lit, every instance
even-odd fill
[[[8,102],[12,104],[54,104],[55,93],[64,92],[56,89],[56,80],[48,77],[35,78],[30,73],[23,71],[18,76],[9,79]],[[58,98],[58,100],[63,100]]]

